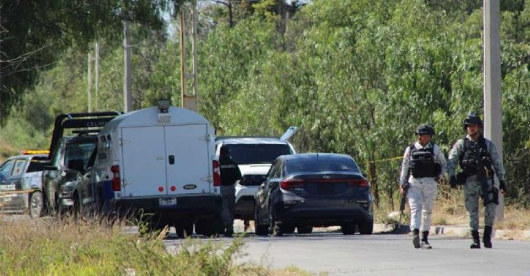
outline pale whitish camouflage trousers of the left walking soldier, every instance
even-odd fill
[[[411,208],[411,230],[429,231],[438,184],[431,177],[411,177],[409,185],[409,193],[406,196],[409,197]]]

